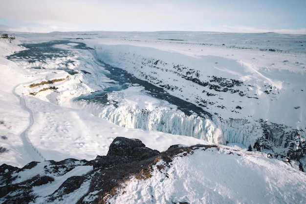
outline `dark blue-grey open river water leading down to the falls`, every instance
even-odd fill
[[[74,43],[73,46],[71,46],[71,50],[61,49],[59,47],[56,47],[56,45],[68,45],[68,43]],[[87,49],[92,50],[92,48],[87,47],[85,43],[81,42],[72,42],[69,40],[61,40],[61,41],[49,41],[49,42],[42,42],[42,43],[35,43],[35,44],[22,44],[26,50],[22,50],[20,52],[14,53],[7,57],[7,59],[11,61],[28,61],[28,62],[35,62],[35,61],[41,61],[41,62],[47,62],[47,60],[50,59],[56,59],[61,57],[71,57],[74,56],[76,53],[74,50],[78,49]],[[93,56],[94,56],[94,52]],[[66,61],[73,62],[73,61]],[[200,117],[203,118],[211,118],[212,115],[206,111],[204,111],[201,107],[196,106],[193,103],[186,102],[184,100],[181,100],[175,96],[172,96],[168,94],[163,88],[157,87],[149,82],[137,79],[127,71],[118,68],[113,67],[109,64],[106,64],[104,62],[98,62],[100,66],[102,65],[105,67],[106,70],[109,71],[109,73],[106,73],[105,75],[111,79],[114,80],[116,83],[113,83],[110,87],[99,90],[93,93],[89,93],[86,95],[82,95],[74,100],[82,100],[87,102],[95,102],[101,105],[104,105],[108,101],[108,93],[112,91],[120,91],[128,88],[132,84],[139,84],[144,87],[146,90],[146,93],[150,96],[159,99],[167,101],[171,104],[174,104],[177,106],[179,110],[184,112],[186,115],[191,114],[197,114]],[[42,67],[31,67],[34,69],[41,69]],[[66,71],[67,73],[73,75],[76,73],[79,73],[78,70],[73,70],[69,68],[60,68],[61,70]],[[76,68],[77,69],[77,68]],[[82,70],[80,70],[82,71]]]

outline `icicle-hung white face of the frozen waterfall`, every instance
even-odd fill
[[[185,135],[212,143],[225,144],[222,131],[210,119],[186,115],[169,107],[140,109],[137,107],[101,105],[94,102],[74,101],[73,106],[119,126],[142,130],[155,130]]]

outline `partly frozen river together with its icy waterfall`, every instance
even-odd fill
[[[66,45],[73,43],[73,49],[63,49]],[[12,61],[27,61],[34,63],[37,61],[48,63],[57,58],[73,57],[79,49],[93,50],[84,43],[75,43],[68,40],[49,41],[36,44],[23,44],[26,50],[8,56],[7,59]],[[94,56],[94,52],[92,52]],[[107,119],[117,125],[138,128],[144,130],[156,130],[176,135],[186,135],[212,141],[213,132],[217,126],[212,122],[212,115],[204,111],[197,105],[186,102],[167,93],[163,88],[157,87],[149,82],[137,79],[127,71],[113,67],[103,61],[94,61],[97,67],[106,71],[103,77],[111,80],[108,87],[101,88],[95,92],[82,94],[72,99],[76,104],[74,107],[86,110],[96,116]],[[73,63],[69,60],[66,63]],[[65,66],[66,65],[66,66]],[[30,69],[44,69],[42,67],[30,67]],[[71,69],[67,64],[62,64],[60,70],[66,71],[70,75],[76,73],[86,74],[84,70],[78,70],[76,66]],[[122,104],[125,100],[124,94],[118,94],[130,90],[132,87],[139,88],[139,94],[135,94],[135,100],[156,101],[153,108],[127,106]],[[112,100],[113,95],[121,96]],[[146,101],[146,103],[148,103]],[[120,103],[121,102],[121,103]]]

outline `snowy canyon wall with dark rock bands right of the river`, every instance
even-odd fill
[[[264,50],[260,52],[270,54]],[[306,95],[302,80],[304,73],[300,73],[304,68],[295,70],[295,64],[288,66],[288,61],[283,61],[280,68],[266,65],[263,69],[255,62],[248,64],[217,56],[191,60],[178,53],[127,45],[97,45],[95,57],[125,67],[137,78],[212,113],[209,119],[202,119],[210,125],[202,125],[202,122],[201,128],[193,128],[194,132],[184,131],[188,129],[181,125],[182,135],[220,144],[240,143],[249,150],[260,150],[273,158],[294,160],[292,163],[304,170],[306,129],[301,99]],[[282,70],[282,66],[290,71]],[[291,74],[294,77],[288,77]],[[184,119],[186,127],[190,127],[187,121]],[[196,124],[194,121],[192,123]],[[203,126],[221,131],[210,133]],[[219,140],[210,136],[218,134]]]

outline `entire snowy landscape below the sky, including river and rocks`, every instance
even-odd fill
[[[1,34],[1,33],[0,33]],[[0,35],[0,203],[305,203],[306,35]]]

